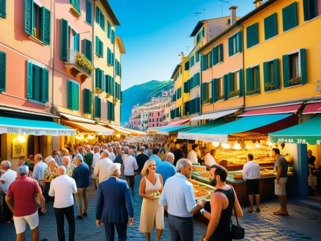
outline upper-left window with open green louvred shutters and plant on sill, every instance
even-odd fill
[[[0,1],[1,2],[1,1]],[[5,17],[0,3],[0,16]],[[45,7],[39,7],[33,0],[25,0],[24,4],[24,31],[30,36],[50,45],[51,40],[51,12]]]

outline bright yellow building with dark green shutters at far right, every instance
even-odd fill
[[[319,97],[320,1],[254,3],[237,22],[243,28],[246,110]]]

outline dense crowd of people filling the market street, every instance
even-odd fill
[[[209,220],[202,240],[230,241],[233,238],[233,210],[237,217],[242,217],[243,213],[233,187],[226,183],[228,172],[223,165],[216,163],[214,149],[201,154],[197,144],[191,146],[190,152],[187,152],[187,146],[186,142],[175,143],[166,137],[132,137],[93,145],[70,144],[59,152],[53,151],[45,159],[41,154],[36,154],[32,161],[22,157],[17,171],[11,170],[9,161],[2,161],[0,188],[4,198],[4,221],[7,224],[14,222],[17,241],[24,240],[27,224],[31,228],[32,241],[38,241],[38,216],[46,213],[46,202],[54,201],[58,240],[65,240],[66,217],[68,237],[73,241],[74,197],[79,211],[76,219],[86,218],[87,188],[91,179],[97,190],[97,226],[104,224],[108,241],[114,240],[115,228],[118,239],[126,240],[127,224],[134,223],[134,212],[138,211],[134,210],[133,196],[135,176],[139,175],[139,197],[143,198],[139,231],[145,234],[147,241],[151,240],[154,227],[156,240],[161,239],[164,217],[168,218],[171,240],[194,240],[193,215],[196,213]],[[284,163],[278,149],[273,151],[278,157],[275,190],[281,202],[281,210],[275,214],[288,215],[286,161]],[[253,156],[249,154],[243,178],[247,181],[251,204],[248,211],[253,212],[254,193],[256,211],[259,212],[259,166],[252,161]],[[210,170],[211,185],[215,187],[210,211],[204,210],[205,201],[195,201],[193,185],[188,181],[195,163],[206,165]]]

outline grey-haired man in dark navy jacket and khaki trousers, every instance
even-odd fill
[[[78,206],[79,214],[77,219],[82,219],[82,217],[87,217],[87,187],[89,186],[89,166],[83,161],[81,154],[77,153],[74,157],[74,162],[76,168],[73,171],[72,178],[75,179],[77,192],[75,193],[75,199]],[[84,205],[84,210],[82,212],[82,201]]]

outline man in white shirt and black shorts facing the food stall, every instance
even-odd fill
[[[253,161],[253,155],[247,155],[247,162],[243,165],[243,180],[246,181],[248,200],[250,201],[249,213],[253,212],[253,193],[256,200],[256,212],[260,212],[260,165]]]

